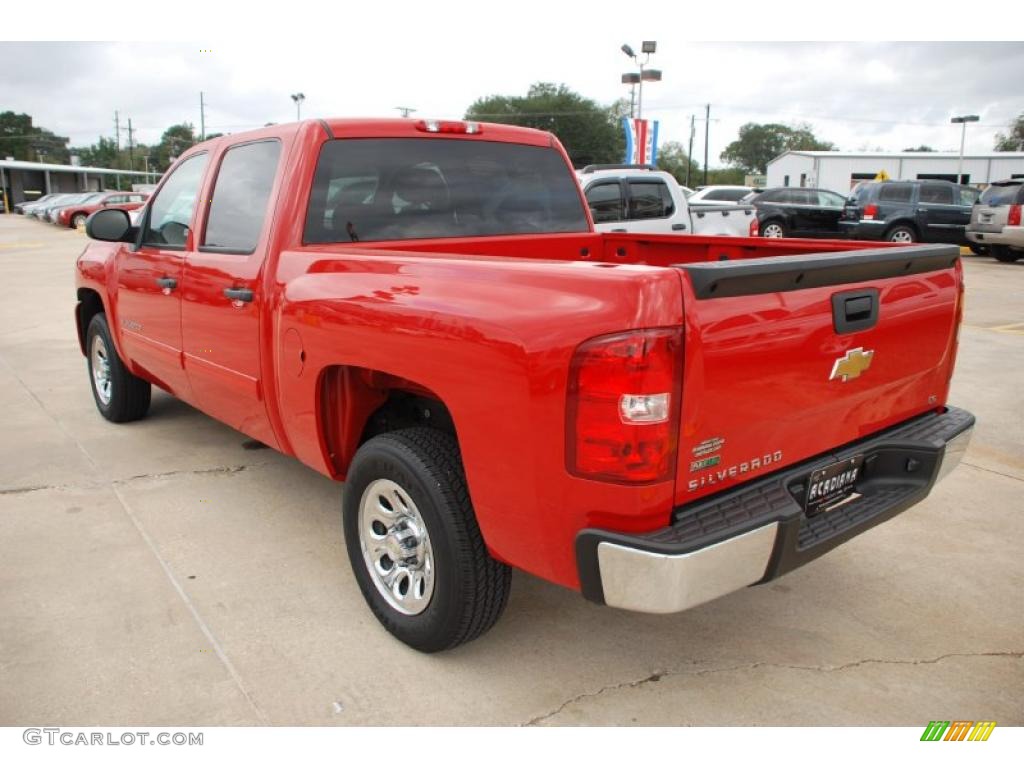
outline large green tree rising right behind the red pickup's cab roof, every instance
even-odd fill
[[[602,106],[566,85],[534,83],[525,96],[485,96],[466,111],[467,120],[508,123],[551,131],[577,167],[621,163],[626,155],[623,101]]]

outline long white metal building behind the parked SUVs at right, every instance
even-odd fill
[[[885,171],[891,179],[956,180],[954,152],[803,152],[792,151],[768,163],[768,186],[817,186],[845,195],[858,181]],[[1024,152],[965,155],[961,180],[984,185],[1024,177]]]

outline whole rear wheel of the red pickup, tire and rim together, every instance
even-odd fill
[[[358,450],[345,482],[348,559],[384,628],[425,652],[489,630],[512,570],[487,554],[455,437],[417,427]]]

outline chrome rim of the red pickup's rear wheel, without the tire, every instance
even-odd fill
[[[420,511],[398,483],[374,480],[359,501],[359,548],[370,578],[388,604],[422,613],[434,593],[434,553]]]

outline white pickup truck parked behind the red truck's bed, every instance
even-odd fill
[[[754,206],[690,208],[675,177],[650,166],[590,165],[577,171],[601,232],[758,237]]]

